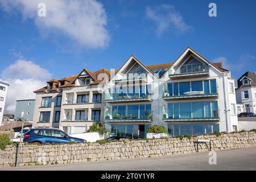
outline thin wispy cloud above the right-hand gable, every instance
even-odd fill
[[[175,28],[179,32],[185,32],[189,28],[181,14],[171,5],[160,5],[146,8],[146,16],[156,24],[156,34],[162,35],[168,28]]]

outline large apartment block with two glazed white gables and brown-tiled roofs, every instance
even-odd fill
[[[166,127],[171,136],[238,130],[230,71],[190,47],[172,63],[145,65],[132,55],[119,69],[83,69],[60,82],[36,91],[34,126],[82,133],[101,122],[112,135],[134,138],[146,137],[151,125]],[[45,97],[60,96],[59,110],[53,103],[42,108]]]

